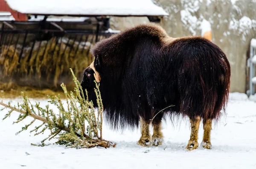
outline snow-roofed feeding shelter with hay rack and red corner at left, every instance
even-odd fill
[[[0,11],[13,16],[0,19],[0,82],[55,89],[72,82],[70,68],[81,79],[93,44],[119,32],[111,17],[168,15],[151,0],[0,0]]]

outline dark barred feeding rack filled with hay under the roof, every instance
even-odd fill
[[[60,26],[67,24],[67,28]],[[93,61],[90,48],[111,31],[105,20],[83,23],[3,21],[0,32],[0,80],[56,88],[73,68],[77,76]],[[72,26],[84,29],[73,29]],[[70,27],[70,28],[68,28]],[[61,78],[62,77],[62,78]],[[60,80],[61,78],[61,80]],[[43,80],[43,81],[42,81]]]

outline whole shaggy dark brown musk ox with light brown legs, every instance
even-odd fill
[[[230,64],[218,46],[203,37],[169,37],[150,23],[102,40],[91,52],[94,61],[81,86],[97,105],[94,80],[100,84],[104,114],[114,129],[140,122],[138,144],[157,146],[163,141],[163,116],[186,115],[191,123],[186,149],[198,147],[201,119],[201,145],[211,149],[212,120],[225,110],[230,87]]]

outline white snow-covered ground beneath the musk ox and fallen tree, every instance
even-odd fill
[[[11,100],[11,104],[17,104],[17,101],[21,100]],[[40,100],[40,103],[46,105],[47,100]],[[0,112],[0,119],[6,112]],[[165,123],[165,141],[158,147],[138,146],[139,130],[113,132],[104,125],[103,137],[115,141],[115,148],[66,149],[54,144],[44,147],[30,145],[40,143],[48,133],[34,137],[28,130],[15,135],[29,122],[27,119],[12,125],[17,115],[13,113],[10,118],[0,120],[0,169],[256,169],[256,103],[239,93],[231,94],[227,115],[213,126],[212,149],[200,146],[191,152],[184,148],[190,135],[188,119],[177,120],[174,126],[171,122]],[[202,135],[200,126],[199,144]]]

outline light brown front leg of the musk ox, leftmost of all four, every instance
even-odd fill
[[[149,125],[150,123],[147,123],[145,120],[140,118],[140,140],[138,141],[138,144],[140,146],[151,146],[151,137],[149,133]]]

